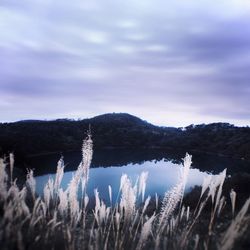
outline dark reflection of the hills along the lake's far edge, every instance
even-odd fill
[[[166,161],[181,164],[182,158],[186,152],[174,150],[160,149],[106,149],[95,150],[91,168],[98,167],[114,167],[126,166],[130,164],[147,164],[148,161]],[[240,159],[232,159],[228,157],[201,154],[191,152],[193,155],[193,168],[202,171],[209,171],[217,174],[227,168],[228,174],[239,172],[250,173],[250,162]],[[73,171],[77,168],[81,161],[81,152],[63,153],[66,171]],[[39,157],[29,158],[25,162],[25,168],[35,169],[36,175],[44,175],[54,173],[56,164],[61,154],[43,155]]]

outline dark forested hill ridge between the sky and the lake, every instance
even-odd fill
[[[158,127],[124,113],[91,119],[26,120],[0,124],[1,154],[32,154],[79,150],[91,125],[95,148],[170,148],[250,159],[250,128],[228,123]]]

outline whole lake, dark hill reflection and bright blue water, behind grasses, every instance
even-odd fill
[[[81,161],[81,152],[64,153],[65,174],[62,181],[66,189],[74,171]],[[91,197],[95,188],[104,200],[108,200],[108,185],[112,186],[114,197],[117,195],[120,178],[127,174],[133,182],[141,172],[148,172],[146,195],[162,196],[178,182],[184,152],[166,150],[96,150],[90,169],[87,193]],[[51,176],[54,178],[60,154],[38,156],[29,159],[28,165],[35,169],[37,192],[43,193],[43,187]],[[201,185],[209,173],[217,174],[227,168],[227,174],[249,172],[249,162],[227,157],[193,154],[186,192],[195,185]]]

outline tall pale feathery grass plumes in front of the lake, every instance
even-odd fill
[[[160,201],[144,197],[147,172],[136,183],[124,174],[120,190],[109,201],[94,191],[94,207],[86,193],[93,143],[89,134],[83,142],[82,162],[68,188],[61,188],[64,162],[60,159],[55,179],[49,179],[43,197],[36,194],[33,170],[24,187],[13,180],[14,156],[0,160],[1,249],[232,249],[249,228],[250,198],[236,213],[236,193],[231,205],[222,196],[226,170],[204,179],[196,208],[183,204],[191,166],[186,155],[178,183]],[[9,165],[9,166],[8,166]],[[9,175],[7,170],[9,169]],[[231,218],[225,219],[226,206]],[[209,214],[205,209],[210,208]],[[221,221],[224,221],[222,226]]]

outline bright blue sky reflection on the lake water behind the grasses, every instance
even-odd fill
[[[155,193],[162,196],[167,190],[178,182],[180,176],[180,164],[175,164],[170,161],[145,161],[142,164],[127,164],[122,167],[99,167],[90,169],[90,178],[87,193],[93,195],[93,190],[98,188],[100,196],[104,200],[108,199],[108,185],[112,186],[114,197],[117,196],[120,187],[120,178],[123,173],[126,173],[133,182],[142,171],[147,171],[148,180],[146,187],[146,195],[154,196]],[[67,188],[69,181],[72,178],[73,171],[66,172],[62,181],[63,189]],[[206,172],[201,172],[198,169],[191,169],[187,181],[186,191],[190,190],[194,185],[201,185]],[[36,178],[37,192],[43,193],[43,187],[48,181],[49,176],[52,178],[55,175],[43,175]]]

